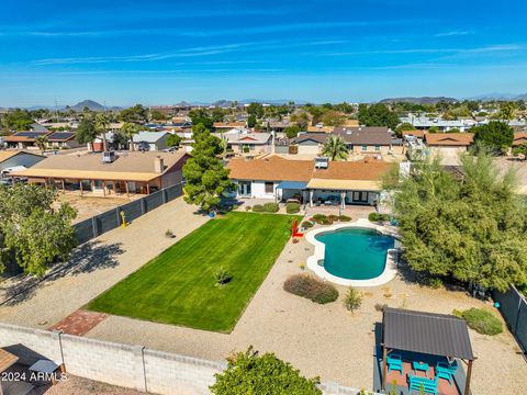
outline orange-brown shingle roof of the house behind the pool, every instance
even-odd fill
[[[379,180],[392,165],[382,160],[330,161],[327,169],[315,169],[313,160],[289,160],[278,156],[264,159],[231,159],[229,178],[237,180],[305,181]]]

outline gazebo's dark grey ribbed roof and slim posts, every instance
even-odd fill
[[[448,362],[439,362],[434,366],[434,376],[452,380],[455,372],[448,372],[450,362],[459,359],[467,364],[467,377],[464,381],[463,395],[470,394],[470,379],[472,374],[472,363],[475,357],[470,343],[467,321],[453,315],[433,314],[400,308],[386,307],[382,314],[382,372],[381,387],[386,388],[386,376],[389,364],[397,364],[400,359],[401,374],[404,375],[403,361],[396,353],[406,352],[408,354],[424,356],[428,358],[444,358]],[[395,352],[392,352],[396,350]],[[392,356],[392,357],[391,357]],[[395,361],[393,359],[395,358]],[[414,371],[422,370],[421,365],[411,361]],[[416,364],[417,363],[417,364]],[[428,364],[426,370],[428,370]],[[441,375],[441,369],[446,370]],[[425,374],[427,377],[427,374]],[[407,374],[411,379],[422,380],[421,377]],[[428,380],[428,379],[426,379]],[[451,384],[450,384],[451,385]],[[415,388],[415,387],[414,387]],[[436,388],[437,392],[437,388]]]

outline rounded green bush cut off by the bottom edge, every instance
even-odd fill
[[[318,379],[306,379],[273,353],[258,354],[253,347],[227,359],[228,366],[214,374],[210,387],[215,395],[235,394],[305,394],[322,395]]]

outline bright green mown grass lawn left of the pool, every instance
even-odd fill
[[[292,216],[229,213],[209,221],[91,301],[88,308],[229,332],[290,237]],[[233,275],[216,286],[214,272]]]

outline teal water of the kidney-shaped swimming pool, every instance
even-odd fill
[[[327,232],[315,238],[326,245],[326,271],[348,280],[369,280],[381,275],[388,250],[394,245],[393,237],[361,228]]]

